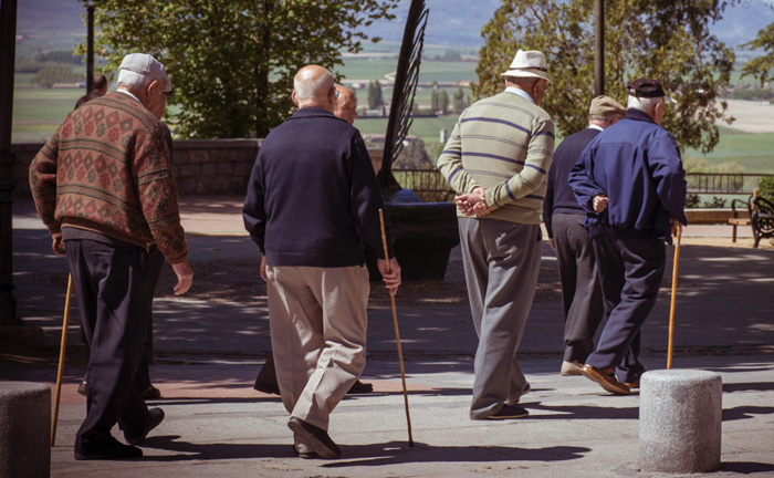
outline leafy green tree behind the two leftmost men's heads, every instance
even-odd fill
[[[87,0],[82,0],[84,3]],[[156,56],[175,85],[187,137],[265,136],[293,111],[293,76],[343,64],[397,0],[101,0],[93,2],[103,71],[129,52]],[[378,39],[370,39],[378,41]],[[81,45],[79,53],[83,53]],[[341,80],[341,77],[336,77]]]

